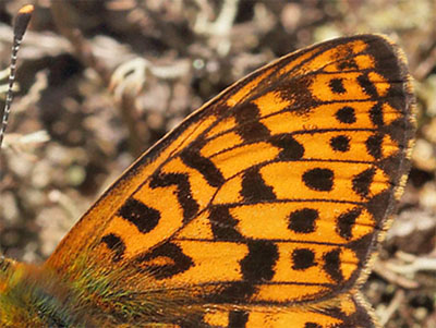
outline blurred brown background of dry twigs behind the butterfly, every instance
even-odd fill
[[[1,68],[13,16],[28,2],[0,2]],[[398,216],[364,292],[384,327],[436,327],[434,0],[34,4],[1,154],[7,256],[44,262],[134,158],[256,68],[325,39],[382,33],[409,59],[419,131]]]

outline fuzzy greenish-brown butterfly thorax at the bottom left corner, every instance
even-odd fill
[[[1,327],[81,327],[80,295],[55,272],[2,259],[0,263]]]

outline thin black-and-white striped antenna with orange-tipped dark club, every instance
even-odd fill
[[[8,127],[9,113],[11,112],[11,104],[13,99],[12,86],[15,81],[15,69],[16,69],[16,54],[20,49],[21,41],[23,40],[24,33],[27,29],[28,22],[31,21],[34,7],[32,4],[24,5],[20,9],[15,17],[14,29],[13,29],[13,44],[11,53],[11,65],[9,73],[9,86],[7,93],[7,100],[4,102],[3,120],[1,122],[0,130],[0,149],[3,143],[4,132]]]

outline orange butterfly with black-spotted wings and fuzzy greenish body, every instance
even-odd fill
[[[325,41],[142,155],[41,266],[0,262],[2,327],[377,327],[359,289],[414,136],[402,52]]]

